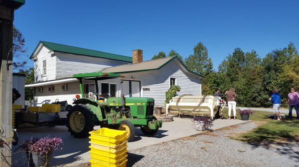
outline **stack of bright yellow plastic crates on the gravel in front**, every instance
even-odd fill
[[[127,131],[101,128],[89,134],[91,167],[126,167]]]

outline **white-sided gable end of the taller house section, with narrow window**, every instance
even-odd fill
[[[50,50],[46,47],[41,47],[40,51],[36,56],[36,60],[34,61],[34,78],[35,82],[39,81],[49,81],[56,79],[56,72],[55,72],[55,56],[51,56],[49,54]],[[46,60],[47,63],[47,74],[42,75],[42,63]]]

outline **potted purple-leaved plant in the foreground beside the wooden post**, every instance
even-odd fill
[[[62,149],[62,139],[59,137],[30,138],[19,148],[26,151],[30,167],[49,167],[53,151]]]

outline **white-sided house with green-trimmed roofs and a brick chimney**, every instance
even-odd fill
[[[126,97],[149,97],[155,105],[163,105],[165,92],[173,84],[179,85],[178,94],[201,95],[201,76],[188,70],[176,56],[143,61],[142,50],[134,50],[133,58],[66,46],[39,42],[30,56],[35,65],[34,103],[52,103],[67,100],[80,94],[76,73],[111,72],[125,75],[122,79],[98,81],[99,94],[120,96],[120,81]],[[84,93],[95,92],[95,83],[85,81]]]

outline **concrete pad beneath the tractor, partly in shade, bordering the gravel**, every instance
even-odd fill
[[[244,123],[247,121],[243,120],[227,120],[227,119],[216,119],[214,121],[213,130]],[[95,129],[99,126],[95,127]],[[190,118],[177,118],[174,117],[173,122],[163,122],[163,127],[160,128],[155,136],[144,135],[140,128],[136,128],[135,141],[128,143],[128,150],[135,150],[138,148],[146,147],[149,145],[166,142],[173,139],[178,139],[181,137],[186,137],[200,133],[192,127],[192,122]],[[52,166],[74,166],[81,163],[87,163],[89,158],[89,139],[79,139],[72,137],[65,126],[55,126],[55,127],[36,127],[19,129],[19,141],[23,141],[30,137],[44,137],[44,136],[57,136],[61,137],[64,142],[64,147],[62,151],[55,151],[53,153],[53,158],[51,160]],[[16,147],[12,148],[12,167],[27,167],[26,159],[24,154],[16,151]]]

